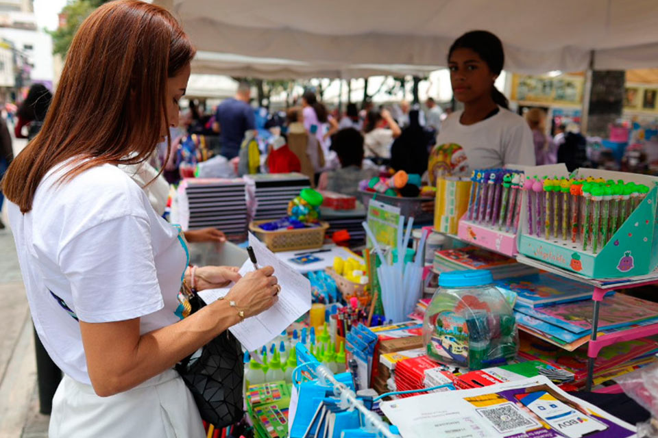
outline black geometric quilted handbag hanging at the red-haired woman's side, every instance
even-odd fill
[[[193,312],[204,307],[196,294],[189,300]],[[208,342],[200,355],[197,351],[180,361],[176,370],[204,421],[223,428],[242,420],[243,354],[240,343],[228,330]]]

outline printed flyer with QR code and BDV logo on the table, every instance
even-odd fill
[[[635,427],[545,376],[381,404],[403,438],[625,438]]]

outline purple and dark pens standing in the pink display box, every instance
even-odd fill
[[[474,170],[467,219],[516,233],[521,216],[523,172],[511,169]]]

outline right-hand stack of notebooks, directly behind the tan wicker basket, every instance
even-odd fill
[[[258,173],[245,175],[249,220],[276,220],[288,216],[288,203],[310,181],[301,173]]]

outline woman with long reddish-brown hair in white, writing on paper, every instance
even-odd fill
[[[173,365],[276,302],[271,267],[243,278],[187,268],[179,231],[117,168],[147,159],[178,125],[194,54],[166,10],[101,6],[73,38],[40,133],[3,179],[34,326],[65,374],[51,438],[202,437]],[[226,299],[183,318],[181,283],[230,281]]]

